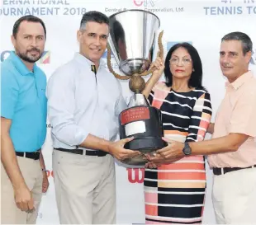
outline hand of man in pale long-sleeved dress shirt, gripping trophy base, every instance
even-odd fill
[[[129,150],[124,148],[125,144],[133,140],[132,138],[124,138],[120,141],[110,143],[108,147],[108,152],[111,153],[113,157],[117,160],[122,161],[126,158],[139,156],[141,153],[139,151]]]

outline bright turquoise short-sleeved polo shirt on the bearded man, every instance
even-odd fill
[[[12,120],[15,151],[35,152],[45,142],[47,99],[45,73],[33,73],[15,52],[1,64],[1,116]]]

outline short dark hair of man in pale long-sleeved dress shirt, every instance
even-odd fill
[[[108,17],[102,12],[97,12],[97,11],[85,12],[83,14],[83,18],[80,22],[80,29],[84,29],[88,21],[97,22],[97,23],[106,23],[107,25],[109,25]]]

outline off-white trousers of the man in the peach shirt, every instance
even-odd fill
[[[214,176],[212,201],[218,224],[256,224],[256,168]]]

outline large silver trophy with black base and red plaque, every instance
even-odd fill
[[[145,153],[152,153],[164,148],[164,136],[161,111],[148,104],[141,93],[145,88],[142,76],[149,75],[152,63],[154,41],[160,26],[158,16],[143,10],[127,10],[117,12],[109,17],[110,37],[107,47],[107,66],[116,78],[128,80],[131,96],[126,110],[119,115],[120,138],[134,137],[126,143],[125,148],[139,150],[139,157],[128,158],[124,163],[142,166],[147,162]],[[159,34],[159,56],[164,49],[161,42],[163,31]],[[111,67],[111,51],[114,54],[119,69],[124,76],[117,74]]]

